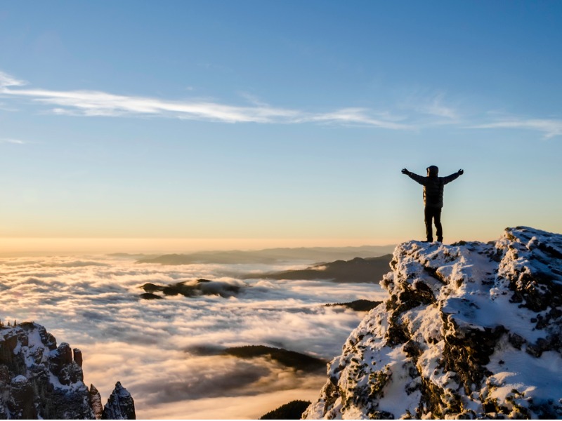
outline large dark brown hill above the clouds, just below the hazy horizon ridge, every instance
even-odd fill
[[[336,260],[331,263],[319,263],[312,267],[281,272],[247,274],[244,279],[325,279],[338,283],[378,283],[382,276],[390,272],[392,255],[378,258],[354,258],[352,260]]]

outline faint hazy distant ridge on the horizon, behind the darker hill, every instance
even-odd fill
[[[191,265],[195,263],[218,264],[273,264],[294,260],[311,260],[327,262],[330,260],[348,260],[353,258],[370,258],[392,253],[395,246],[360,246],[360,247],[301,247],[301,248],[267,248],[264,250],[228,250],[202,251],[188,254],[166,254],[158,257],[148,256],[137,263],[159,263],[160,265]]]

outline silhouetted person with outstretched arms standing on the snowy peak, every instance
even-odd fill
[[[457,173],[447,175],[447,177],[438,177],[439,168],[432,165],[427,168],[427,177],[410,173],[406,168],[402,173],[410,177],[412,180],[419,182],[424,186],[424,204],[425,204],[425,220],[426,220],[426,236],[427,241],[433,241],[433,229],[431,227],[431,220],[435,222],[437,229],[437,241],[443,242],[443,227],[441,227],[441,208],[443,208],[443,186],[447,182],[456,180],[459,175],[464,174],[464,171],[459,170]]]

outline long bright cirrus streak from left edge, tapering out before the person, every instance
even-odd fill
[[[250,106],[225,105],[209,100],[165,100],[103,91],[52,91],[22,88],[25,81],[0,73],[0,95],[20,98],[50,107],[54,114],[81,116],[167,116],[178,119],[224,123],[353,123],[389,129],[407,129],[393,119],[382,119],[368,109],[344,108],[311,113],[299,109],[272,107],[258,100]]]

